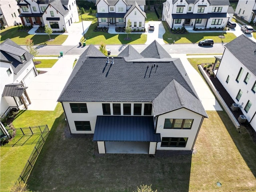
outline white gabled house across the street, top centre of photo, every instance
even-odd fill
[[[130,20],[133,30],[142,30],[145,28],[145,5],[145,0],[97,0],[98,26],[124,27]]]

